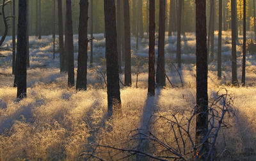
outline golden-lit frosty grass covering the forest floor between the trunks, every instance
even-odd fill
[[[218,49],[217,34],[218,32],[215,33],[214,38],[214,51]],[[246,86],[232,87],[230,35],[230,32],[223,32],[222,80],[217,78],[216,56],[209,64],[209,102],[213,102],[218,97],[218,92],[223,92],[225,88],[232,97],[232,111],[234,111],[234,115],[227,118],[228,128],[221,129],[218,135],[216,153],[221,153],[223,160],[255,160],[256,55],[248,54],[246,59]],[[93,40],[95,62],[92,69],[88,68],[88,90],[85,92],[76,92],[75,88],[67,87],[67,74],[60,73],[59,69],[59,54],[56,53],[56,58],[52,59],[52,36],[43,36],[40,40],[31,36],[29,37],[28,97],[17,101],[17,88],[13,88],[12,52],[1,52],[6,57],[0,58],[0,73],[2,73],[0,74],[0,160],[79,160],[81,153],[92,151],[90,146],[92,143],[131,148],[134,144],[124,142],[127,141],[132,130],[147,126],[145,122],[148,122],[152,115],[170,118],[172,114],[179,112],[182,113],[179,115],[179,120],[189,117],[196,101],[195,33],[182,35],[182,68],[179,70],[176,70],[175,63],[173,65],[176,36],[168,38],[166,36],[166,74],[173,87],[166,80],[166,87],[157,89],[156,97],[147,96],[148,39],[147,36],[145,37],[139,39],[138,50],[136,50],[136,39],[132,38],[132,87],[123,87],[120,83],[123,115],[111,122],[106,119],[108,107],[104,83],[106,67],[103,60],[105,53],[103,34],[95,34]],[[248,34],[248,39],[250,38],[252,33]],[[239,82],[242,71],[241,40],[242,37],[239,36],[240,45],[237,45]],[[74,36],[75,67],[77,67],[77,41],[78,37]],[[10,46],[12,46],[12,38],[8,37],[4,47]],[[88,49],[89,61],[90,44]],[[141,65],[138,88],[136,88],[138,62]],[[120,80],[124,81],[124,74],[120,74]],[[170,131],[170,127],[161,126],[164,122],[158,123],[159,126],[152,126],[155,129],[151,129],[156,135]],[[193,130],[195,130],[194,124],[191,125]],[[109,125],[111,130],[108,128]],[[167,138],[166,142],[171,144],[172,139]],[[97,151],[95,154],[106,160],[125,157],[125,153],[117,153],[109,149]],[[124,160],[132,160],[132,157]]]

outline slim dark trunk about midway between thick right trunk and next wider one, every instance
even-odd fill
[[[222,0],[219,0],[218,79],[221,80]]]

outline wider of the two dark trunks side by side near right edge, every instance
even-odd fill
[[[231,25],[232,25],[232,84],[238,85],[236,64],[236,2],[231,1]]]

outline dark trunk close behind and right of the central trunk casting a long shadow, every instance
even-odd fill
[[[157,53],[156,82],[158,87],[165,86],[164,69],[164,34],[165,34],[165,0],[159,1],[159,39]]]

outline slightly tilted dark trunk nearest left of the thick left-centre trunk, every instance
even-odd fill
[[[72,9],[71,0],[66,0],[66,35],[67,35],[67,63],[68,63],[68,87],[74,87],[74,45],[73,45],[73,27],[72,27]]]

